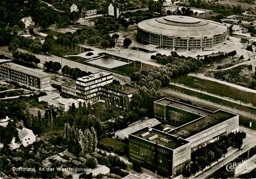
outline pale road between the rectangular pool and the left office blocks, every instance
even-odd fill
[[[25,50],[25,49],[21,49],[21,48],[19,48],[18,50],[20,52],[33,54],[29,50]],[[35,54],[33,54],[33,55],[35,55]],[[53,56],[53,55],[48,55],[47,56],[47,55],[41,55],[40,54],[40,55],[35,55],[35,56],[40,59],[40,64],[38,64],[39,67],[42,67],[43,64],[46,61],[53,61],[53,62],[59,62],[62,67],[67,65],[71,68],[79,68],[79,69],[84,70],[84,71],[91,71],[92,73],[105,71],[105,70],[102,70],[102,69],[98,69],[98,68],[95,68],[95,67],[92,67],[92,66],[84,65],[84,64],[81,64],[81,63],[78,63],[78,62],[74,62],[74,61],[71,61],[71,60],[68,60],[68,59],[65,59],[65,58],[60,58],[60,57]],[[113,79],[119,80],[121,84],[131,83],[130,77],[123,76],[123,75],[120,75],[120,74],[117,74],[117,73],[113,73]]]

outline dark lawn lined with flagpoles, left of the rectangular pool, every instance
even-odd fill
[[[68,49],[69,46],[69,49]],[[73,50],[72,50],[72,46],[71,44],[65,44],[65,48],[63,47],[63,43],[58,43],[57,41],[55,41],[52,44],[52,48],[49,52],[49,54],[55,55],[55,56],[59,56],[59,57],[63,57],[65,55],[78,55],[80,54],[80,48],[76,47],[77,50],[75,50],[75,45],[73,45]],[[84,49],[81,47],[81,52],[84,52]]]

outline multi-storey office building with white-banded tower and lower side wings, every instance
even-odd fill
[[[127,96],[131,98],[137,89],[113,83],[113,74],[109,72],[98,72],[83,76],[76,83],[68,82],[61,86],[62,96],[81,98],[87,102],[94,103],[107,97]]]

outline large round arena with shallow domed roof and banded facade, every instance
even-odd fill
[[[219,22],[170,15],[138,23],[138,40],[174,50],[215,49],[225,42],[228,29]]]

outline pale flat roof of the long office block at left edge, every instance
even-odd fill
[[[18,71],[18,72],[21,72],[21,73],[24,73],[24,74],[28,74],[28,75],[34,76],[36,78],[45,78],[47,76],[51,76],[48,73],[45,73],[45,72],[42,72],[42,71],[39,71],[39,70],[35,70],[35,69],[32,69],[32,68],[28,68],[28,67],[25,67],[25,66],[22,66],[22,65],[18,65],[18,64],[15,64],[15,63],[5,63],[5,64],[2,64],[0,66],[4,67],[4,68],[11,69],[11,70],[14,70],[14,71]]]

